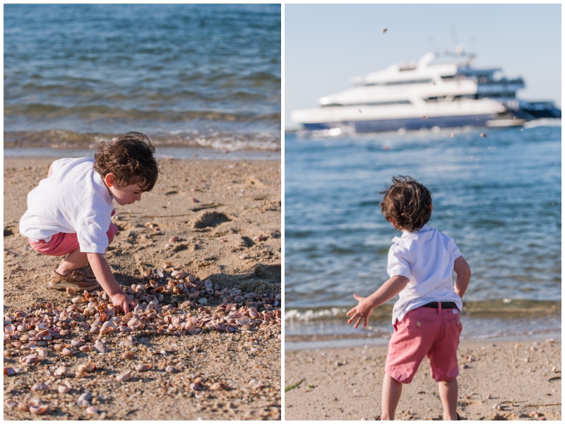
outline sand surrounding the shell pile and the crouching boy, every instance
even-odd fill
[[[5,317],[18,310],[30,317],[41,314],[36,311],[73,306],[71,296],[47,288],[49,273],[60,258],[33,252],[18,232],[27,194],[47,177],[53,160],[4,160]],[[87,319],[69,336],[37,343],[44,356],[38,355],[35,364],[20,363],[32,351],[6,343],[5,336],[4,367],[16,373],[4,373],[4,419],[280,419],[280,313],[278,318],[275,313],[280,302],[267,305],[267,300],[280,299],[281,290],[280,162],[161,160],[160,167],[163,173],[153,192],[143,194],[141,202],[114,203],[114,223],[120,231],[106,257],[117,281],[131,289],[147,285],[145,277],[151,273],[157,278],[159,272],[167,277],[184,271],[198,281],[212,281],[216,292],[254,293],[246,301],[258,303],[260,312],[266,308],[270,321],[232,333],[206,328],[198,334],[180,331],[182,335],[112,332],[104,336],[107,353],[75,349],[64,356],[55,350],[56,343],[79,338],[94,346],[97,334],[88,332],[92,319]],[[171,241],[172,237],[177,239]],[[160,306],[165,310],[178,307],[194,315],[207,308],[214,314],[222,302],[222,295],[207,296],[208,304],[199,310],[186,302],[187,297],[162,294]],[[9,342],[17,340],[18,336]],[[126,351],[133,359],[122,358]],[[94,370],[77,377],[78,367],[88,363]],[[136,365],[150,369],[137,372]],[[61,366],[68,376],[56,375]],[[167,366],[178,372],[165,372]],[[127,370],[132,370],[131,379],[119,382],[115,377]],[[32,391],[36,383],[44,383],[48,390]],[[61,384],[71,390],[59,393]],[[90,400],[78,405],[85,393],[92,399],[87,395]],[[40,416],[7,404],[37,398],[48,406]]]

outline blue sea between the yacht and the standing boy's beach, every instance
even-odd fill
[[[561,126],[534,125],[287,134],[287,339],[359,336],[345,312],[357,304],[353,293],[369,295],[388,279],[388,249],[401,234],[379,208],[394,175],[430,189],[429,225],[453,237],[470,264],[464,312],[475,320],[467,336],[560,332]],[[393,303],[374,311],[361,336],[390,334]]]

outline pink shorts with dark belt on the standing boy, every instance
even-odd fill
[[[457,348],[463,326],[457,309],[417,307],[396,322],[388,343],[385,372],[408,384],[427,356],[432,378],[447,382],[459,375]]]

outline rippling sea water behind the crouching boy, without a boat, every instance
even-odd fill
[[[280,150],[280,5],[4,5],[4,146]]]

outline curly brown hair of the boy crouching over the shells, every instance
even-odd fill
[[[94,155],[94,170],[102,178],[114,174],[118,187],[139,184],[143,192],[150,192],[160,172],[153,153],[155,146],[148,136],[130,131],[112,143],[100,143]]]

